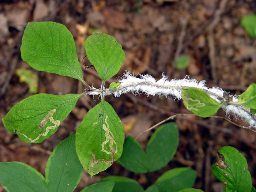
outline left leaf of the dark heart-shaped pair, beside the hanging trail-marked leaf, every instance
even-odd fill
[[[147,156],[139,142],[128,136],[124,142],[124,150],[118,162],[135,173],[147,173]]]

